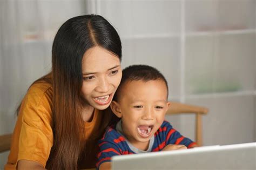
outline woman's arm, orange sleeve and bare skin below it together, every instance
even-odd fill
[[[32,85],[22,101],[11,152],[17,169],[44,169],[53,144],[51,89]]]

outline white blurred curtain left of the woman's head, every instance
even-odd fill
[[[12,133],[26,90],[51,70],[59,26],[86,8],[77,0],[0,0],[0,134]],[[0,169],[7,155],[0,154]]]

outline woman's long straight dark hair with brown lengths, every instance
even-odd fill
[[[86,142],[80,96],[82,59],[93,46],[103,47],[120,60],[122,58],[118,33],[102,16],[84,15],[69,19],[60,26],[53,41],[52,72],[39,79],[51,79],[48,82],[53,87],[53,146],[46,164],[48,169],[78,168]],[[111,114],[104,114],[104,117],[99,135],[111,121]]]

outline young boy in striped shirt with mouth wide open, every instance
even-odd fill
[[[167,81],[158,70],[147,65],[132,65],[123,77],[110,105],[120,118],[107,128],[98,144],[97,169],[110,169],[114,155],[167,151],[196,146],[164,120],[170,107]]]

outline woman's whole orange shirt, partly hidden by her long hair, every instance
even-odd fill
[[[33,84],[22,100],[5,170],[15,169],[18,160],[36,161],[45,167],[53,145],[51,111],[52,86],[43,81]],[[90,156],[82,158],[82,168],[96,167],[97,141],[90,138],[98,135],[101,121],[102,113],[95,110],[92,121],[85,123],[85,153]]]

